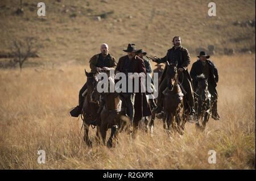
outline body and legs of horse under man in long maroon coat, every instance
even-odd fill
[[[109,78],[111,79],[111,78]],[[112,79],[113,81],[113,79]],[[97,89],[94,89],[92,93],[92,98],[94,94],[98,92]],[[127,126],[127,117],[125,116],[125,111],[122,109],[122,101],[117,92],[102,92],[97,93],[102,96],[102,101],[105,102],[105,106],[101,111],[101,123],[100,123],[100,138],[102,144],[105,145],[106,133],[108,129],[111,129],[110,137],[107,142],[107,146],[112,148],[113,140],[115,144],[118,143],[118,133],[122,131],[124,127]],[[94,100],[93,100],[94,101]]]

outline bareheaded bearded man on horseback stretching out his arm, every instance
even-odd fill
[[[185,90],[185,97],[189,106],[189,115],[195,114],[195,102],[193,97],[193,88],[191,77],[188,73],[188,65],[190,64],[189,52],[186,48],[181,46],[181,39],[179,36],[175,36],[172,39],[174,46],[171,49],[168,49],[167,54],[163,58],[154,57],[154,61],[157,63],[169,62],[170,64],[177,64],[177,70],[179,75],[179,82]],[[158,94],[158,106],[155,108],[155,113],[160,113],[163,110],[163,91],[167,87],[167,78],[166,78],[167,66],[164,68],[164,73],[161,78]]]

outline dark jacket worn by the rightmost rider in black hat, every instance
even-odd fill
[[[208,82],[213,87],[216,87],[218,82],[218,70],[216,66],[213,64],[213,62],[208,59],[207,59],[207,64],[209,65],[209,68],[210,68]],[[204,67],[200,62],[200,60],[197,60],[196,62],[193,63],[192,68],[190,70],[190,75],[191,75],[191,78],[193,79],[193,86],[197,85],[196,76],[202,74],[203,69]]]

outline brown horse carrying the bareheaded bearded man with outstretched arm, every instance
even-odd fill
[[[168,64],[166,76],[168,87],[164,90],[164,129],[168,132],[172,131],[178,132],[179,134],[184,133],[185,119],[184,115],[184,103],[183,103],[183,93],[181,92],[177,65]],[[167,124],[167,127],[166,127]]]

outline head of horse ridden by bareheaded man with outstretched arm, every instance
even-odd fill
[[[177,84],[177,78],[178,78],[178,74],[177,74],[177,63],[176,64],[169,64],[169,62],[167,61],[167,71],[166,71],[166,75],[167,75],[167,80],[168,80],[168,87],[169,89],[172,91],[174,89],[174,86]]]

